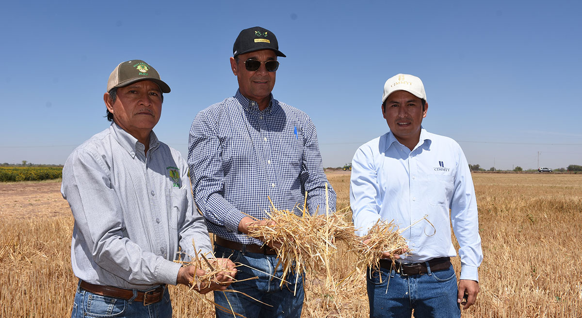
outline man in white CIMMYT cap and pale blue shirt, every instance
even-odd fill
[[[434,225],[411,226],[402,233],[410,255],[396,255],[392,263],[386,252],[379,271],[368,269],[370,317],[410,318],[413,309],[415,317],[460,317],[460,305],[469,308],[479,292],[483,256],[469,165],[455,140],[421,126],[427,110],[420,78],[390,78],[382,96],[390,131],[361,146],[352,160],[350,204],[357,234],[365,237],[378,220],[407,227],[427,215]],[[450,263],[456,256],[451,223],[460,246],[458,286]]]

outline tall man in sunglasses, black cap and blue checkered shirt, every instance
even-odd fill
[[[247,318],[300,317],[303,277],[279,288],[281,266],[272,247],[246,235],[251,224],[269,224],[272,204],[300,214],[307,208],[325,214],[325,184],[315,126],[307,114],[273,98],[279,50],[275,35],[253,27],[240,32],[230,57],[239,82],[235,96],[196,115],[190,129],[188,164],[196,204],[216,234],[215,253],[243,263],[235,292],[215,292],[223,308]],[[335,192],[328,191],[335,211]],[[300,205],[300,206],[297,206]],[[261,221],[255,221],[261,220]],[[252,268],[252,269],[251,269]],[[257,269],[257,270],[254,270]],[[289,274],[288,277],[295,277]],[[226,299],[228,297],[228,299]],[[270,306],[269,306],[270,305]],[[217,309],[217,317],[232,317]]]

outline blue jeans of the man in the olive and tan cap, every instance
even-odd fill
[[[172,303],[168,288],[164,291],[161,301],[144,306],[143,302],[101,296],[77,286],[71,318],[87,317],[171,318]]]

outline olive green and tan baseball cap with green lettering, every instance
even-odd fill
[[[139,81],[152,81],[158,84],[162,93],[170,92],[170,86],[159,78],[158,71],[142,60],[130,60],[119,63],[115,67],[115,70],[111,72],[111,75],[109,75],[107,91],[109,92],[112,88],[127,86]]]

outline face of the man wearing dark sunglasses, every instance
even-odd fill
[[[239,58],[238,63],[234,57],[230,57],[230,67],[239,81],[240,93],[255,102],[260,102],[267,98],[275,86],[276,72],[268,72],[267,68],[265,68],[265,63],[261,63],[261,66],[256,71],[247,71],[244,67],[244,61],[248,59],[260,62],[276,61],[275,52],[272,50],[258,50],[241,54],[237,57]]]

